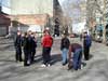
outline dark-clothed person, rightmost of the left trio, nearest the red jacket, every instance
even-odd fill
[[[35,38],[35,33],[31,33],[32,42],[31,42],[31,63],[35,62],[35,54],[36,54],[36,48],[37,48],[37,40]]]

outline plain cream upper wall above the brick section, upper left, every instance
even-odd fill
[[[49,14],[53,15],[53,0],[11,0],[11,14]]]

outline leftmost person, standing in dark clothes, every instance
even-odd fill
[[[21,36],[21,31],[17,31],[16,38],[15,38],[15,50],[16,50],[16,54],[15,54],[15,59],[16,62],[22,62],[22,36]]]

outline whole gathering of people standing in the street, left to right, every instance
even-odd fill
[[[84,53],[84,59],[89,60],[91,44],[92,40],[87,32],[83,33],[83,46],[79,43],[70,43],[67,35],[64,33],[60,40],[63,66],[68,64],[68,69],[81,69],[82,53]],[[43,59],[42,67],[49,67],[51,66],[51,50],[53,45],[53,38],[50,35],[50,30],[45,29],[43,31],[41,45]],[[36,49],[37,40],[33,32],[28,31],[25,32],[25,35],[22,35],[21,31],[17,31],[17,36],[15,39],[16,62],[23,62],[22,53],[24,52],[24,66],[29,66],[35,60]]]

